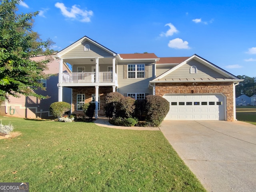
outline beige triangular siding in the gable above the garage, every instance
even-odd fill
[[[197,67],[197,73],[196,74],[190,74],[190,67],[196,66]],[[190,62],[184,64],[180,68],[174,70],[170,74],[166,75],[164,77],[165,79],[169,78],[225,78],[222,74],[219,74],[218,72],[212,70],[211,68],[208,68],[204,64],[201,64],[200,62],[196,60],[191,60]]]

